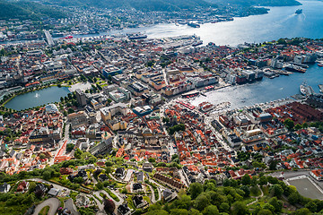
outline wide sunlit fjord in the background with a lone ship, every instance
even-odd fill
[[[148,38],[179,35],[199,36],[206,45],[236,46],[244,42],[264,42],[280,38],[323,38],[323,1],[301,1],[299,6],[268,7],[269,13],[234,18],[233,22],[205,23],[195,29],[188,25],[158,24],[151,27],[122,30],[144,32]],[[303,13],[295,14],[301,8]],[[113,31],[117,33],[117,31]]]

